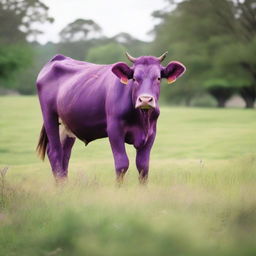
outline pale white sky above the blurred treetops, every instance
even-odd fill
[[[151,17],[155,10],[167,6],[165,0],[42,0],[54,17],[53,24],[42,26],[45,32],[38,37],[41,43],[58,41],[58,33],[68,23],[78,18],[92,19],[99,24],[106,36],[128,32],[132,36],[150,40],[147,33],[157,20]]]

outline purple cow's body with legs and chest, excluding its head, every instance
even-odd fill
[[[41,139],[45,139],[44,150],[47,145],[55,177],[67,176],[75,137],[85,144],[109,137],[119,179],[129,165],[124,143],[133,144],[140,177],[147,177],[159,106],[156,102],[154,108],[136,109],[131,85],[134,81],[122,84],[113,73],[115,65],[96,65],[57,55],[39,73],[37,89],[44,118]],[[145,68],[150,72],[152,66]],[[148,95],[150,91],[146,88],[143,93]]]

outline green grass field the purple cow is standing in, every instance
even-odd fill
[[[255,256],[256,111],[162,107],[147,187],[115,186],[107,139],[76,142],[56,187],[35,97],[0,97],[2,256]]]

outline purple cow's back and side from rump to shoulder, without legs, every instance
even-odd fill
[[[107,136],[105,101],[115,80],[111,67],[55,56],[38,75],[42,108],[50,106],[82,140]]]

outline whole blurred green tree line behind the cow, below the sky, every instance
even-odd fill
[[[127,33],[106,37],[90,19],[77,19],[60,31],[58,43],[40,45],[35,23],[54,22],[40,0],[0,0],[0,87],[35,93],[42,65],[56,53],[94,63],[126,61],[134,56],[160,55],[187,66],[173,88],[162,87],[165,101],[224,107],[235,94],[247,108],[256,99],[256,0],[166,0],[152,16],[158,24],[152,42]],[[32,41],[32,42],[31,42]],[[207,95],[210,95],[211,98]],[[203,102],[203,99],[205,102]],[[201,102],[200,102],[201,100]]]

